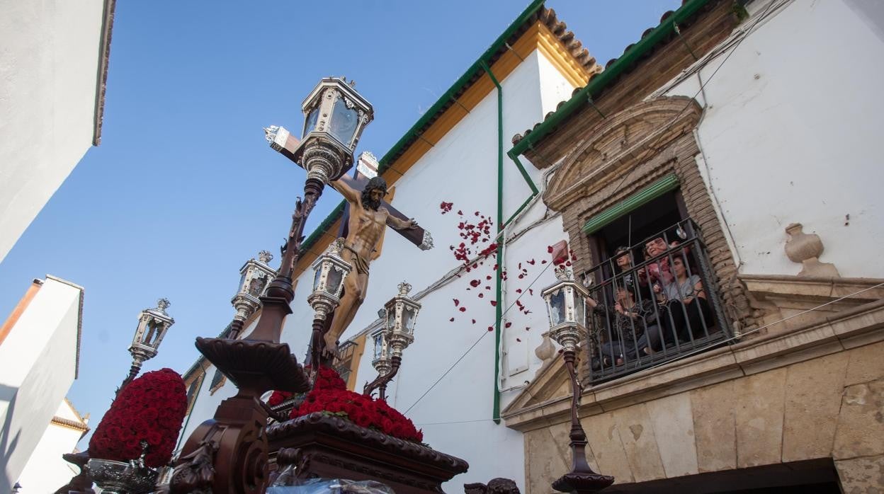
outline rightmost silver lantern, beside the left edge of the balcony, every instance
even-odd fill
[[[574,351],[587,335],[586,298],[589,293],[564,266],[556,268],[555,275],[558,280],[541,293],[549,315],[549,334],[566,351]]]

